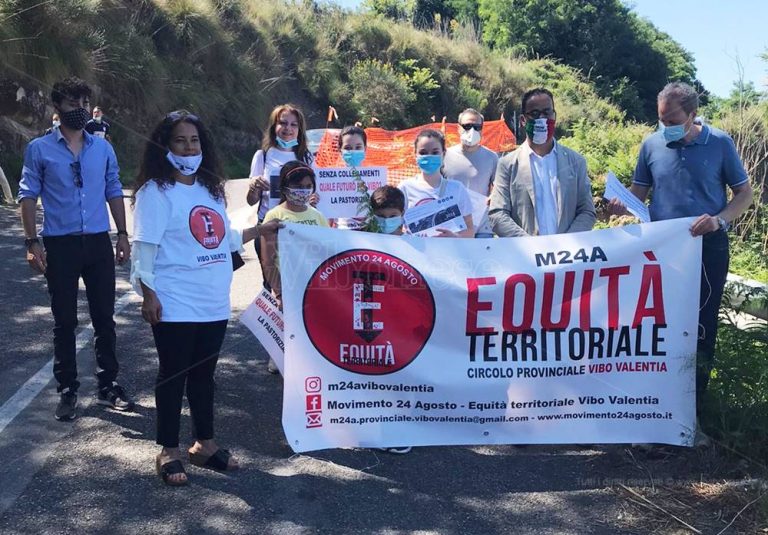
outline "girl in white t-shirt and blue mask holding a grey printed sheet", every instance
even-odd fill
[[[473,238],[475,230],[472,225],[472,201],[469,193],[461,182],[443,176],[445,137],[437,130],[428,128],[416,136],[414,147],[420,172],[398,186],[405,194],[405,213],[421,204],[453,197],[467,228],[460,232],[438,228],[438,237]]]

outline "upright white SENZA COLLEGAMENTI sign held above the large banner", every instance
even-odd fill
[[[371,194],[386,185],[385,167],[360,167],[356,169],[360,179]],[[359,212],[363,193],[355,180],[355,172],[349,167],[324,167],[317,170],[317,192],[320,202],[316,208],[328,219],[365,216],[367,208]]]

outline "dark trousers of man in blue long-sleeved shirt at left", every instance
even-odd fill
[[[45,278],[53,311],[53,376],[58,391],[77,391],[75,329],[80,277],[85,283],[94,330],[99,387],[117,379],[115,356],[115,253],[109,233],[43,238],[48,257]]]

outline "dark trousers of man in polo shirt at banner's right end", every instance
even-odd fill
[[[728,277],[728,235],[718,230],[706,234],[701,252],[701,290],[699,301],[699,338],[696,346],[696,408],[701,412],[704,392],[715,363],[717,318]]]

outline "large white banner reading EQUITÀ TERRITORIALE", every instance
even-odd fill
[[[691,445],[690,222],[492,240],[287,225],[288,443]]]

